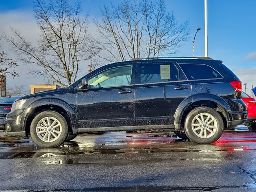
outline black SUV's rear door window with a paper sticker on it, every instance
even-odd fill
[[[140,83],[178,81],[178,74],[174,64],[144,64],[140,66]]]

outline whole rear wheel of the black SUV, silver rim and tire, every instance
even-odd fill
[[[202,117],[204,118],[203,121]],[[194,108],[185,119],[186,135],[190,140],[198,144],[215,142],[222,135],[223,129],[222,117],[210,107]]]

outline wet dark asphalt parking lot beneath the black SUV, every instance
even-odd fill
[[[256,132],[225,131],[213,144],[170,132],[84,134],[59,148],[0,132],[0,190],[256,191]]]

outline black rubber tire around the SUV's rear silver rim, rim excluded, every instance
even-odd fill
[[[197,128],[200,128],[200,130],[197,130],[196,132],[199,134],[197,135],[196,133],[194,133],[194,131],[192,130],[192,121],[194,118],[196,118],[196,116],[198,114],[210,114],[211,116],[210,117],[213,117],[216,121],[212,122],[214,123],[216,126],[217,126],[217,129],[215,130],[215,132],[212,130],[212,133],[213,135],[210,136],[209,138],[202,138],[202,135],[200,137],[200,133],[201,130],[202,132],[204,133],[204,127],[206,129],[206,125],[205,123],[202,123],[202,122],[199,122],[200,124],[202,123],[202,126],[198,126]],[[204,117],[203,117],[204,118]],[[212,118],[210,118],[212,120]],[[206,120],[206,119],[204,119]],[[210,120],[210,121],[211,121]],[[197,121],[197,120],[196,120]],[[208,121],[210,123],[210,121]],[[194,124],[196,122],[193,122]],[[210,123],[210,125],[208,124],[208,126],[212,126],[212,123]],[[208,126],[207,126],[207,129],[206,129],[206,136],[208,135],[208,133],[210,133],[208,131]],[[213,143],[215,141],[217,141],[220,136],[222,135],[222,132],[223,132],[223,129],[224,129],[224,123],[223,123],[223,120],[222,120],[222,117],[220,116],[220,114],[210,108],[210,107],[198,107],[198,108],[194,108],[192,111],[190,111],[188,113],[188,115],[186,116],[186,119],[185,119],[185,132],[186,132],[186,135],[188,136],[188,138],[198,144],[210,144],[210,143]],[[208,131],[208,133],[207,133]],[[210,133],[211,134],[211,133]]]

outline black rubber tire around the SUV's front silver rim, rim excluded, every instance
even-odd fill
[[[43,141],[42,139],[39,138],[39,136],[36,133],[36,129],[37,129],[36,126],[38,125],[40,120],[42,120],[42,118],[46,118],[46,117],[56,118],[60,122],[60,125],[62,127],[62,131],[60,132],[60,134],[58,134],[58,138],[52,142]],[[43,147],[43,148],[58,147],[64,143],[64,141],[66,140],[66,138],[68,136],[68,124],[67,124],[65,118],[58,112],[44,111],[44,112],[41,112],[40,114],[38,114],[32,120],[31,126],[30,126],[30,135],[31,135],[32,139],[34,140],[34,142],[40,147]],[[50,135],[51,135],[51,133],[50,133]],[[51,137],[52,137],[52,135],[50,136],[50,138]]]

